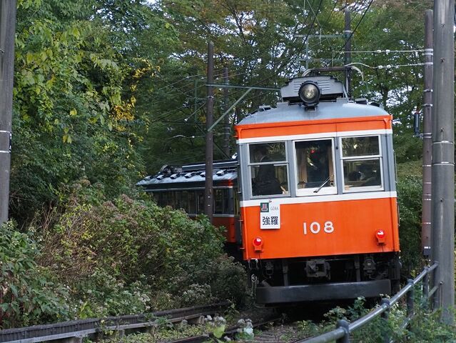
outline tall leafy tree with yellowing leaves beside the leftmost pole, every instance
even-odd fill
[[[62,185],[87,177],[118,195],[143,170],[134,94],[156,66],[124,59],[94,4],[19,1],[11,214],[20,224],[56,204]]]

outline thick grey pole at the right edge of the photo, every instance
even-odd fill
[[[434,306],[442,322],[455,322],[455,41],[454,0],[434,1],[434,96],[432,111],[432,259]]]

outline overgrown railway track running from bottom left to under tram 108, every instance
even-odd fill
[[[82,319],[71,322],[37,325],[17,329],[0,331],[0,343],[31,343],[31,342],[62,342],[79,343],[84,338],[96,342],[141,342],[158,343],[200,343],[200,342],[251,342],[251,343],[278,343],[300,342],[308,337],[308,330],[300,328],[299,322],[305,319],[323,319],[328,307],[308,308],[296,307],[295,311],[288,312],[288,316],[278,315],[270,309],[261,312],[238,314],[236,317],[252,317],[240,319],[238,324],[222,330],[223,334],[216,335],[216,327],[222,317],[213,318],[214,314],[223,314],[228,309],[228,303],[213,304],[210,306],[189,307],[168,311],[153,312],[151,314],[127,315],[107,317],[103,319]],[[212,317],[212,318],[211,318]],[[217,324],[218,322],[218,324]],[[178,324],[177,326],[171,324]],[[198,325],[191,325],[198,324]],[[182,329],[187,327],[187,329]],[[253,329],[255,332],[253,334]],[[167,331],[168,330],[168,331]],[[176,330],[176,331],[172,331]],[[249,331],[250,330],[250,331]],[[136,337],[134,334],[146,332],[146,337]],[[163,332],[172,332],[163,334]],[[125,334],[133,334],[125,337]],[[150,334],[147,335],[147,334]],[[193,334],[193,336],[192,336]],[[168,337],[168,338],[166,338]],[[183,338],[170,338],[183,337]]]

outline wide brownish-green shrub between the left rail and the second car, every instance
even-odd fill
[[[40,264],[80,299],[79,315],[241,302],[245,272],[223,254],[220,229],[205,217],[122,195],[107,201],[87,181],[44,236]]]

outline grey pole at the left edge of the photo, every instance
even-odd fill
[[[8,220],[16,0],[0,0],[0,224]]]

